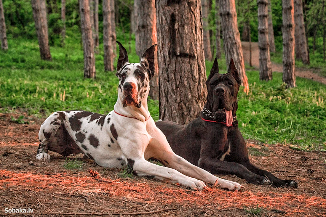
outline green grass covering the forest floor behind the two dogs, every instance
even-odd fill
[[[108,113],[117,100],[115,72],[104,72],[103,46],[96,54],[96,79],[83,79],[83,53],[80,34],[67,29],[66,47],[51,47],[52,62],[40,60],[37,40],[8,36],[8,51],[0,51],[0,112],[16,108],[44,118],[57,110],[83,109]],[[130,62],[139,61],[134,36],[129,45],[117,33]],[[128,36],[126,36],[128,39]],[[117,59],[117,58],[116,58]],[[212,62],[206,62],[209,73]],[[116,65],[116,63],[115,63]],[[226,62],[219,60],[220,72]],[[282,74],[260,81],[258,71],[246,71],[249,94],[238,94],[238,121],[246,139],[266,143],[291,144],[302,150],[326,150],[326,86],[297,78],[297,87],[285,89]],[[63,95],[65,99],[63,100]],[[158,120],[158,101],[149,99],[149,110]]]

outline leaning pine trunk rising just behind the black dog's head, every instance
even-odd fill
[[[244,58],[234,0],[220,0],[220,16],[226,62],[230,63],[230,59],[233,59],[244,85],[244,92],[248,93],[248,78],[244,69]]]

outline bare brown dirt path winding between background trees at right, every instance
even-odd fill
[[[242,51],[244,54],[244,61],[249,63],[249,42],[242,41]],[[258,42],[251,42],[251,63],[254,67],[259,69],[259,49]],[[272,62],[272,71],[273,72],[283,72],[283,65]],[[295,68],[295,75],[301,78],[306,78],[310,80],[315,80],[320,83],[326,84],[326,78],[319,76],[318,74],[312,72],[312,70],[305,68]]]

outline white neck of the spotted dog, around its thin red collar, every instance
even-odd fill
[[[141,107],[137,108],[135,106],[127,106],[123,107],[123,95],[120,89],[118,89],[118,100],[114,105],[114,111],[117,113],[131,117],[136,118],[142,122],[146,121],[149,116],[151,115],[148,111],[147,106],[147,98],[148,98],[149,90],[146,92],[145,96],[142,98]]]

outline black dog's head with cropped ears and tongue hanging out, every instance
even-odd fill
[[[238,109],[237,95],[240,84],[241,80],[233,60],[230,61],[228,73],[220,74],[215,58],[206,81],[208,91],[206,106],[213,112],[215,120],[226,119],[227,126],[231,126],[233,115]]]

